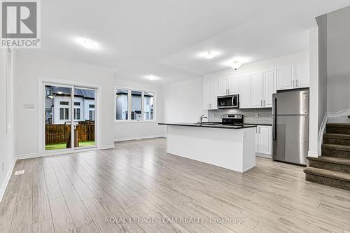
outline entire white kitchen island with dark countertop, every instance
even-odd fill
[[[255,125],[167,125],[167,153],[243,173],[255,167]]]

